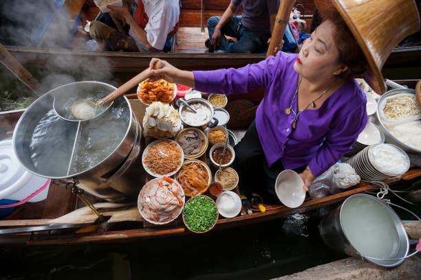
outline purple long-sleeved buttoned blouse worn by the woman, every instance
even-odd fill
[[[294,113],[287,115],[296,91],[297,54],[279,52],[254,65],[239,69],[193,71],[198,91],[220,94],[248,93],[265,88],[256,113],[256,128],[268,166],[281,159],[286,169],[309,165],[319,176],[352,148],[367,124],[365,93],[354,79],[348,80],[320,108],[304,110],[296,128]],[[297,99],[292,108],[297,112]]]

